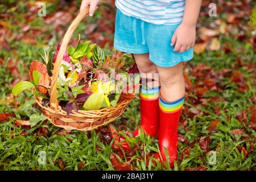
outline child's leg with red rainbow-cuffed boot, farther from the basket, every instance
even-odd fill
[[[163,160],[166,160],[167,148],[170,166],[177,159],[177,127],[185,98],[183,63],[174,67],[157,67],[161,90],[159,94],[159,149]]]

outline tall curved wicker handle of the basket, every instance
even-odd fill
[[[98,5],[105,5],[105,1],[100,1]],[[76,30],[76,27],[79,25],[82,19],[84,19],[85,15],[89,13],[89,6],[86,6],[83,11],[76,16],[71,25],[68,27],[67,32],[64,35],[64,38],[61,42],[59,53],[57,54],[57,59],[53,68],[53,76],[51,82],[51,96],[50,96],[50,106],[52,109],[57,111],[57,107],[59,106],[59,102],[57,101],[57,79],[59,77],[59,69],[61,66],[61,60],[63,59],[64,52],[67,50],[68,43],[72,37],[73,32]]]

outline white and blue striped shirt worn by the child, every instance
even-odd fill
[[[115,6],[125,15],[152,24],[182,22],[185,0],[115,0]]]

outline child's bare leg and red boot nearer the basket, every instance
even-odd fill
[[[142,77],[142,86],[140,90],[141,104],[141,129],[151,136],[158,136],[159,128],[159,82],[156,65],[149,59],[148,53],[135,54],[136,64]],[[151,79],[155,81],[152,81]],[[147,80],[146,80],[147,79]],[[134,136],[139,135],[139,130],[134,131]]]

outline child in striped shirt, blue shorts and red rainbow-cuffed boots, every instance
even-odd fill
[[[90,5],[92,16],[97,3],[98,0],[83,0],[81,10]],[[141,86],[140,127],[159,137],[158,157],[165,161],[167,148],[173,167],[185,99],[183,61],[193,57],[201,0],[116,0],[115,5],[114,47],[132,53],[139,72],[149,78]],[[158,80],[152,76],[154,73],[159,75],[160,86],[152,84]],[[137,137],[138,130],[133,134]]]

